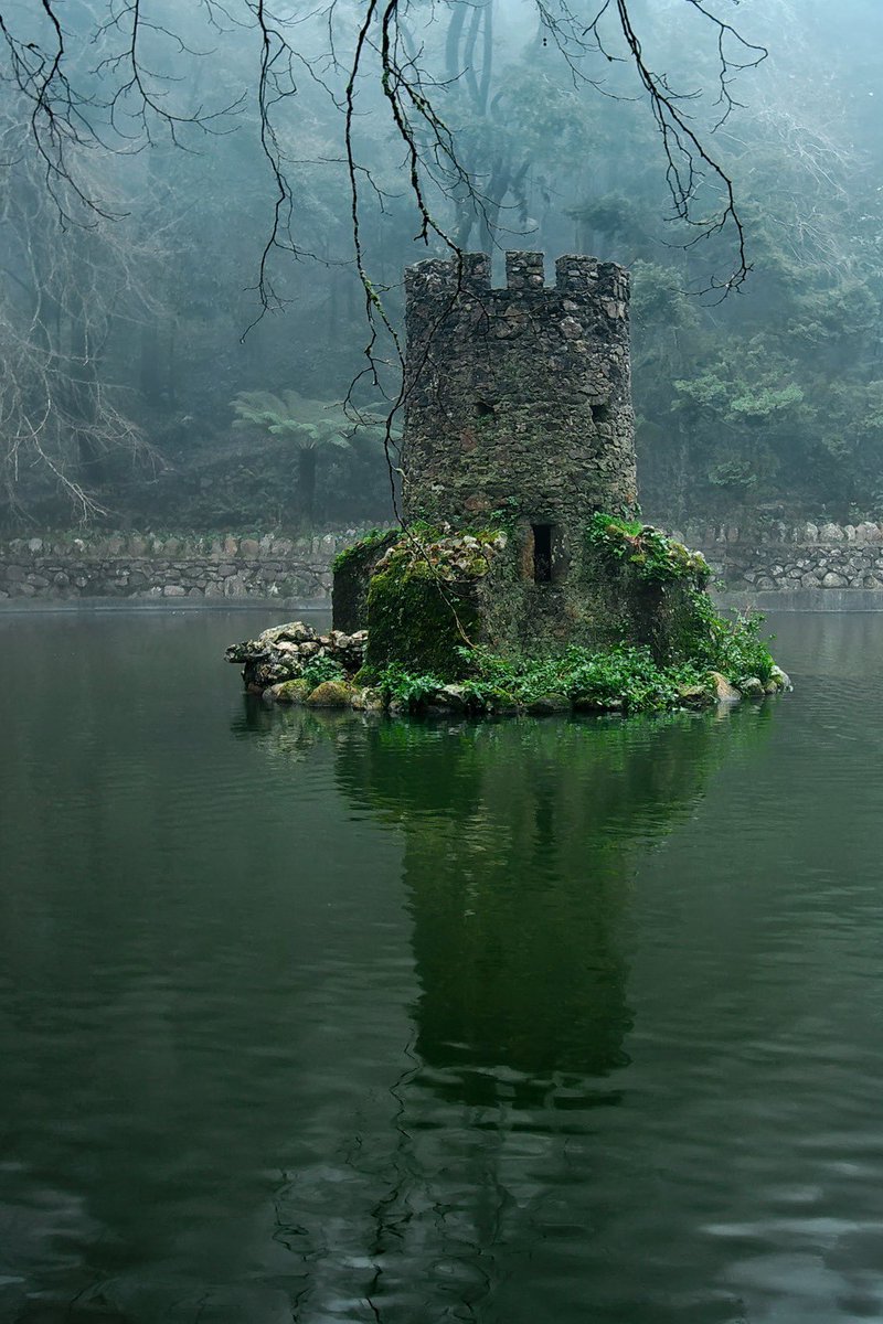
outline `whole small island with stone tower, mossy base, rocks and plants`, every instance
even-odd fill
[[[392,714],[634,712],[789,688],[759,618],[637,506],[629,277],[541,253],[408,270],[402,520],[335,563],[334,628],[233,645],[252,692]]]

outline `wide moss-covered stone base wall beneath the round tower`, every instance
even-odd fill
[[[396,665],[454,681],[469,671],[459,650],[470,645],[519,658],[625,642],[646,646],[659,665],[695,653],[706,625],[696,608],[702,580],[691,569],[675,568],[659,581],[639,561],[617,559],[616,542],[584,536],[559,583],[536,583],[524,555],[530,526],[495,535],[482,548],[479,539],[487,536],[449,534],[426,540],[421,555],[420,535],[405,535],[379,564],[376,556],[373,564],[363,555],[347,559],[338,575],[364,614],[346,628],[368,629],[365,677]],[[467,540],[479,551],[467,560],[461,551],[457,560],[451,548]],[[335,584],[335,600],[336,593]]]

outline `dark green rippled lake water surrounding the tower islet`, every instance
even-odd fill
[[[661,719],[0,616],[0,1321],[883,1320],[883,614]]]

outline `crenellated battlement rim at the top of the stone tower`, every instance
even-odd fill
[[[594,257],[565,254],[555,263],[555,285],[547,287],[543,253],[508,252],[506,254],[506,287],[491,290],[491,263],[486,253],[462,253],[453,258],[429,258],[405,271],[408,303],[445,298],[451,303],[459,297],[507,293],[515,295],[568,295],[572,299],[602,302],[609,316],[625,316],[629,303],[629,273],[617,262],[598,262]],[[614,307],[616,306],[616,307]]]

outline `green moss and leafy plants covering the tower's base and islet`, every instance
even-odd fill
[[[763,618],[728,620],[715,610],[704,591],[704,557],[646,524],[604,512],[585,534],[584,573],[593,583],[576,596],[588,604],[592,634],[557,650],[541,633],[534,645],[515,637],[496,651],[477,645],[486,613],[494,610],[487,602],[506,601],[512,591],[512,567],[504,560],[499,580],[495,573],[478,592],[507,542],[499,531],[426,526],[389,547],[369,583],[359,679],[376,683],[387,702],[408,711],[433,702],[470,711],[532,704],[661,711],[710,702],[715,673],[737,687],[753,682],[759,691],[773,682]],[[614,568],[612,576],[605,563]],[[617,567],[627,571],[630,584]],[[627,604],[631,614],[624,610]]]

